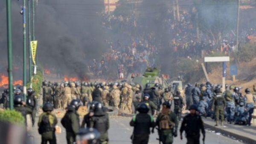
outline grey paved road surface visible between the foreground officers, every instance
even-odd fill
[[[129,126],[131,118],[128,117],[112,117],[110,119],[110,130],[109,139],[110,144],[131,144],[130,136],[133,128]],[[61,126],[60,119],[58,119],[58,126]],[[32,128],[31,132],[35,139],[35,144],[41,143],[41,136],[38,134],[38,127]],[[66,144],[65,129],[61,127],[62,133],[57,134],[57,143]],[[156,138],[158,137],[157,132],[150,135],[149,144],[158,144]],[[183,135],[184,137],[184,135]],[[242,144],[239,141],[225,137],[223,135],[217,135],[216,133],[207,131],[206,133],[206,144]],[[174,139],[174,144],[186,144],[186,139],[180,140],[179,136]],[[202,144],[202,142],[201,142]]]

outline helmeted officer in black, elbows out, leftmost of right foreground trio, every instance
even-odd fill
[[[148,106],[146,104],[140,104],[138,107],[140,112],[134,115],[130,121],[130,126],[134,127],[132,138],[132,144],[148,144],[150,127],[154,127],[154,118],[148,115]]]

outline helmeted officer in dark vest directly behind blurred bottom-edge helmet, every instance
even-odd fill
[[[108,144],[109,118],[108,113],[103,110],[101,103],[95,104],[94,115],[89,118],[91,128],[95,128],[100,133],[100,144]]]

